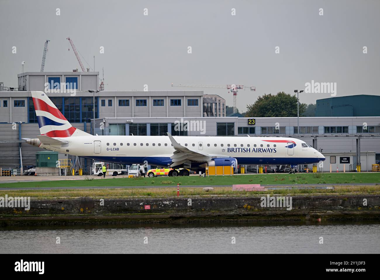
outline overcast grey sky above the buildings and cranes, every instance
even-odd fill
[[[256,92],[239,92],[241,111],[259,95],[292,93],[311,80],[336,82],[336,96],[378,95],[379,11],[378,0],[0,0],[0,81],[17,86],[21,61],[25,72],[40,71],[46,39],[45,71],[80,69],[66,40],[71,37],[92,68],[95,55],[100,77],[104,67],[106,90],[143,90],[144,84],[149,90],[191,90],[172,88],[172,82],[256,86]],[[203,90],[232,106],[227,90]],[[302,94],[300,101],[330,96]]]

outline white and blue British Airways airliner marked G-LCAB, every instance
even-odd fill
[[[43,91],[32,91],[40,136],[33,146],[123,164],[147,163],[200,170],[206,166],[298,165],[325,157],[304,141],[287,137],[94,136],[71,126]],[[178,173],[177,173],[178,174]]]

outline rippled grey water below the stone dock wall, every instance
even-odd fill
[[[379,222],[0,228],[0,253],[379,252]]]

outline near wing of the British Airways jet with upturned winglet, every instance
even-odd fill
[[[178,142],[173,138],[173,136],[169,132],[168,136],[171,141],[171,144],[173,144],[173,147],[175,149],[175,152],[170,157],[173,162],[170,165],[170,167],[175,167],[184,163],[191,162],[208,162],[211,160],[211,158],[219,157],[218,155],[209,155],[199,151],[190,150],[187,147],[178,144]]]

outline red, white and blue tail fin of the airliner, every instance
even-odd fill
[[[70,137],[91,135],[73,127],[43,91],[32,91],[41,135],[48,137]]]

